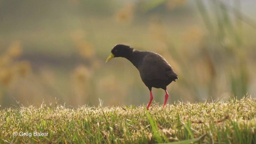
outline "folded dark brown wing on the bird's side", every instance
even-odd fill
[[[147,80],[168,80],[175,73],[168,62],[159,54],[152,53],[144,56],[140,65],[140,76]]]

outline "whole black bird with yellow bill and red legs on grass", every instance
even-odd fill
[[[166,86],[172,81],[176,82],[178,79],[178,74],[174,72],[172,66],[170,66],[160,54],[150,51],[136,50],[124,44],[116,44],[114,48],[112,48],[106,62],[116,57],[126,58],[139,70],[142,81],[150,91],[150,101],[147,110],[149,110],[153,100],[152,87],[162,88],[165,91],[163,105],[163,107],[165,107],[169,97]]]

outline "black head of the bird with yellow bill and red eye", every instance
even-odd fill
[[[108,56],[106,62],[110,61],[114,57],[124,57],[127,58],[131,54],[133,48],[126,46],[124,44],[117,44],[112,48],[110,55]]]

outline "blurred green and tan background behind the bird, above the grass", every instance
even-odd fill
[[[141,105],[148,88],[116,44],[161,54],[169,103],[256,94],[255,0],[0,0],[0,105]],[[154,88],[154,100],[164,91]],[[15,98],[15,99],[13,99]]]

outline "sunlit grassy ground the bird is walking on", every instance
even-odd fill
[[[150,110],[13,106],[0,111],[0,143],[256,143],[255,98],[209,101]]]

